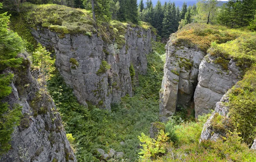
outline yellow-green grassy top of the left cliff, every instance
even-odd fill
[[[96,23],[90,12],[56,4],[32,5],[23,3],[26,22],[31,26],[41,25],[54,32],[64,34],[96,33]]]

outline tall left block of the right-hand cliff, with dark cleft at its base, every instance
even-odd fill
[[[185,46],[166,45],[166,64],[160,90],[160,119],[167,120],[177,106],[189,107],[197,85],[198,68],[204,53]]]

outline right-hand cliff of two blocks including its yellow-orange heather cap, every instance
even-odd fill
[[[236,61],[207,52],[212,41],[225,43],[236,38],[221,38],[220,35],[214,26],[207,29],[204,25],[190,24],[170,37],[160,91],[162,121],[180,108],[195,108],[195,117],[209,113],[239,81],[241,72]]]

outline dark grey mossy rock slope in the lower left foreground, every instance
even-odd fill
[[[1,162],[76,162],[61,124],[60,114],[49,94],[39,90],[29,65],[14,72],[9,105],[22,106],[20,126],[12,133],[12,148]]]

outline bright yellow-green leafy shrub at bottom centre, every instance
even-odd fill
[[[141,136],[138,136],[140,144],[143,149],[140,149],[140,159],[139,161],[147,161],[151,158],[155,159],[157,156],[161,155],[161,153],[166,152],[166,147],[168,145],[167,141],[169,133],[164,133],[163,130],[160,130],[157,135],[157,140],[151,139],[150,137],[146,136],[144,133],[141,133]]]

